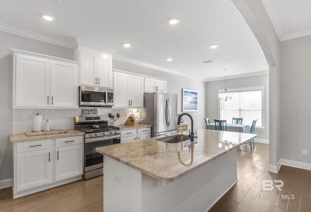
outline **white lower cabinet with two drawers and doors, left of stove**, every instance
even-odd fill
[[[13,152],[13,198],[82,178],[82,136],[14,142]]]

